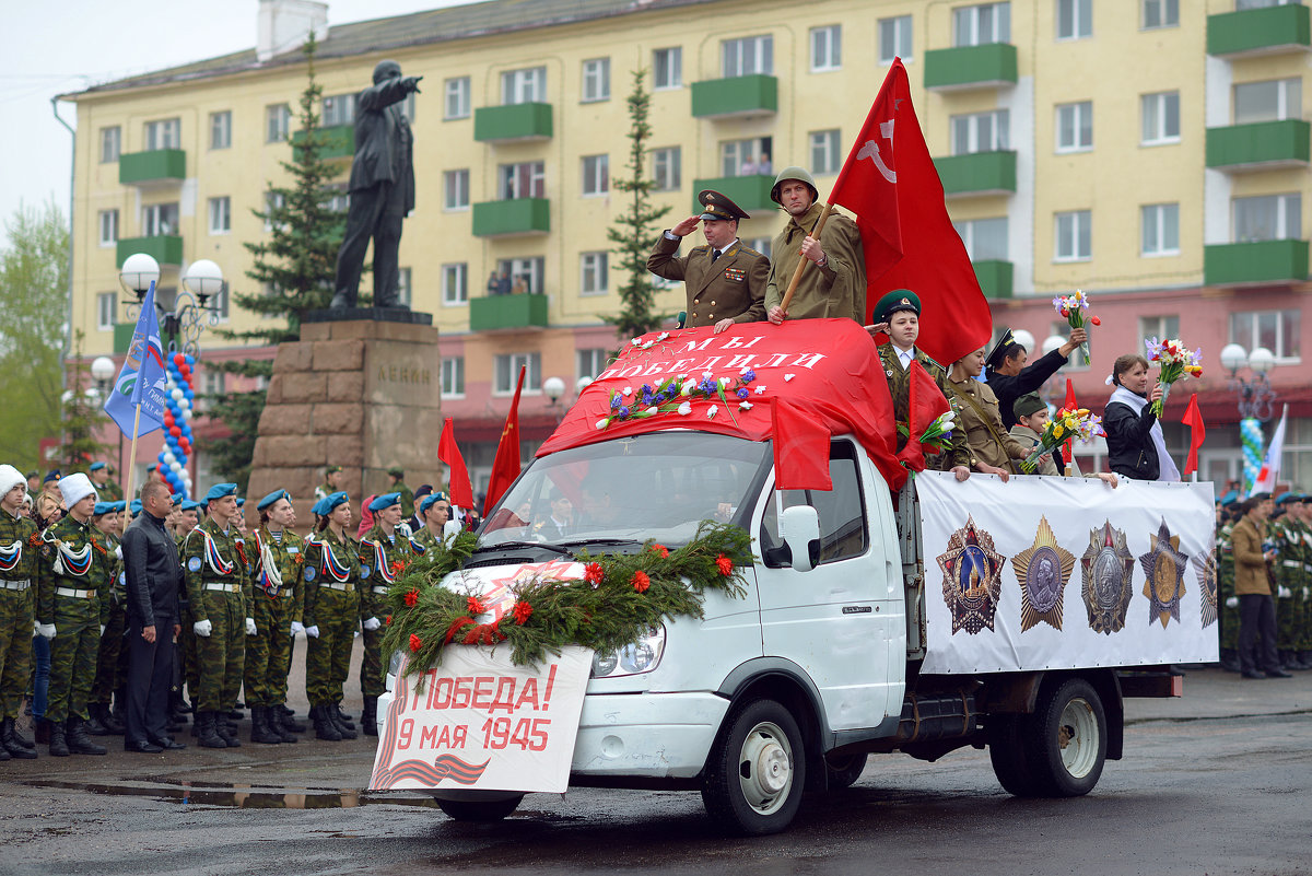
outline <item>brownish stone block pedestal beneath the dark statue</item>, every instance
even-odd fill
[[[307,313],[300,340],[278,346],[249,497],[287,489],[303,525],[327,466],[345,469],[356,510],[384,492],[394,466],[411,489],[436,484],[442,359],[430,323],[409,311]]]

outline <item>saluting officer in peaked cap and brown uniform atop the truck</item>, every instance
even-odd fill
[[[744,247],[737,237],[739,220],[749,216],[712,189],[699,191],[697,201],[702,212],[661,233],[647,258],[647,270],[684,281],[690,328],[714,325],[719,334],[735,323],[764,320],[770,260]],[[706,245],[694,247],[687,256],[676,256],[680,240],[693,233],[697,223],[702,223]]]

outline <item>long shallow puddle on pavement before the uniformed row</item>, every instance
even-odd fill
[[[89,793],[104,793],[115,797],[150,797],[163,803],[228,806],[232,809],[353,809],[379,803],[400,806],[437,808],[437,801],[432,797],[370,793],[352,788],[261,788],[219,782],[198,782],[193,784],[112,784],[106,782],[33,780],[24,784],[35,788],[87,791]]]

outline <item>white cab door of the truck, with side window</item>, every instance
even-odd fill
[[[890,569],[901,568],[896,534],[888,538],[886,531],[892,526],[888,513],[870,513],[878,510],[867,496],[870,485],[887,488],[853,442],[833,441],[829,475],[833,489],[828,492],[764,492],[757,593],[765,654],[785,657],[810,673],[829,729],[876,727],[901,709],[903,699],[901,665],[896,673],[890,669],[890,654],[896,652],[903,660],[905,648],[900,586],[888,584],[888,576],[896,574]],[[887,498],[880,501],[888,505]],[[810,505],[820,517],[820,547],[812,551],[810,572],[792,569],[778,531],[781,508],[794,505]],[[890,556],[892,565],[886,563]]]

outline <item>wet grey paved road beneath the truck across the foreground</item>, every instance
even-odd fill
[[[888,755],[753,841],[695,793],[535,795],[459,825],[362,793],[371,740],[42,757],[0,765],[0,873],[1312,873],[1312,673],[1195,671],[1185,694],[1128,703],[1126,759],[1088,797],[1012,799],[983,751]]]

